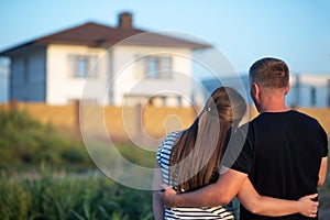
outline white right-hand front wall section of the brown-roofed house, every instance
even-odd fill
[[[116,46],[112,51],[113,63],[113,105],[121,105],[124,96],[147,96],[177,94],[185,97],[183,105],[187,106],[191,98],[193,64],[191,51],[188,48]],[[146,55],[172,56],[174,77],[170,79],[153,79],[136,76],[138,56]]]

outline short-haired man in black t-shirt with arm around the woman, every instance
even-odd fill
[[[187,194],[177,195],[173,189],[161,193],[166,206],[224,205],[237,195],[244,201],[246,190],[240,189],[246,186],[248,177],[260,195],[294,200],[317,193],[324,183],[327,134],[317,120],[286,107],[285,96],[290,88],[287,65],[276,58],[262,58],[251,66],[249,75],[250,94],[260,116],[238,131],[234,143],[243,146],[239,157],[233,164],[227,163],[230,168],[216,184]],[[231,146],[228,150],[233,155]],[[257,202],[243,204],[250,204],[246,208],[252,212],[241,206],[241,219],[268,219],[257,215],[262,212]],[[296,213],[277,219],[308,218]]]

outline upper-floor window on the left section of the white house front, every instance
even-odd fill
[[[75,78],[97,77],[96,55],[69,55],[70,74]]]

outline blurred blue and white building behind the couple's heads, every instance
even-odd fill
[[[238,89],[252,103],[249,95],[249,77],[223,77],[204,79],[205,97],[219,85],[231,86]],[[328,108],[330,107],[330,74],[290,74],[290,91],[286,96],[288,107]]]

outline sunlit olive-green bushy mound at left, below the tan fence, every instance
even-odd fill
[[[24,111],[0,110],[0,168],[38,165],[84,165],[91,162],[78,141],[59,135],[52,124],[44,125]]]

